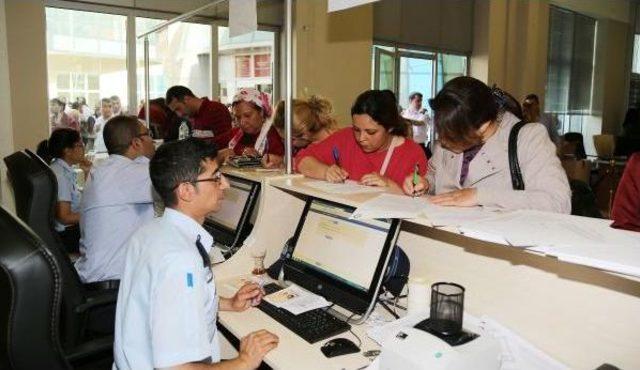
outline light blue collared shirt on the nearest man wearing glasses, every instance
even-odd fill
[[[211,235],[195,220],[167,208],[126,245],[116,308],[114,369],[152,369],[219,362],[218,298],[207,252]]]

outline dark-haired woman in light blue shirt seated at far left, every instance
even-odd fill
[[[51,166],[58,183],[58,201],[55,209],[55,229],[68,253],[78,252],[80,241],[80,197],[78,174],[72,166],[79,165],[84,175],[91,162],[84,158],[84,144],[80,133],[60,128],[51,133],[49,140],[38,145],[38,156]]]

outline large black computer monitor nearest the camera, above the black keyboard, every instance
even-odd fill
[[[351,220],[353,211],[308,198],[283,271],[285,280],[363,315],[375,305],[399,221]]]

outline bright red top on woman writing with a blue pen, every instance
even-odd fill
[[[339,130],[324,139],[323,141],[310,145],[302,149],[296,156],[296,169],[300,161],[305,157],[314,157],[326,165],[335,164],[333,158],[333,148],[336,147],[339,153],[340,167],[349,172],[349,179],[359,181],[362,176],[380,172],[387,151],[375,153],[365,153],[356,142],[351,127]],[[405,139],[404,143],[397,146],[384,176],[402,186],[404,179],[413,173],[414,166],[418,164],[420,175],[427,173],[427,157],[424,151],[412,140]]]

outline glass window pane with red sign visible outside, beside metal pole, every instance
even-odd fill
[[[239,88],[273,92],[275,32],[256,31],[229,37],[228,27],[218,27],[218,82],[220,101],[229,104]]]

